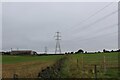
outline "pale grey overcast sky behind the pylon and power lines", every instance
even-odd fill
[[[61,32],[62,52],[118,48],[117,3],[9,2],[2,4],[3,50],[55,51]]]

